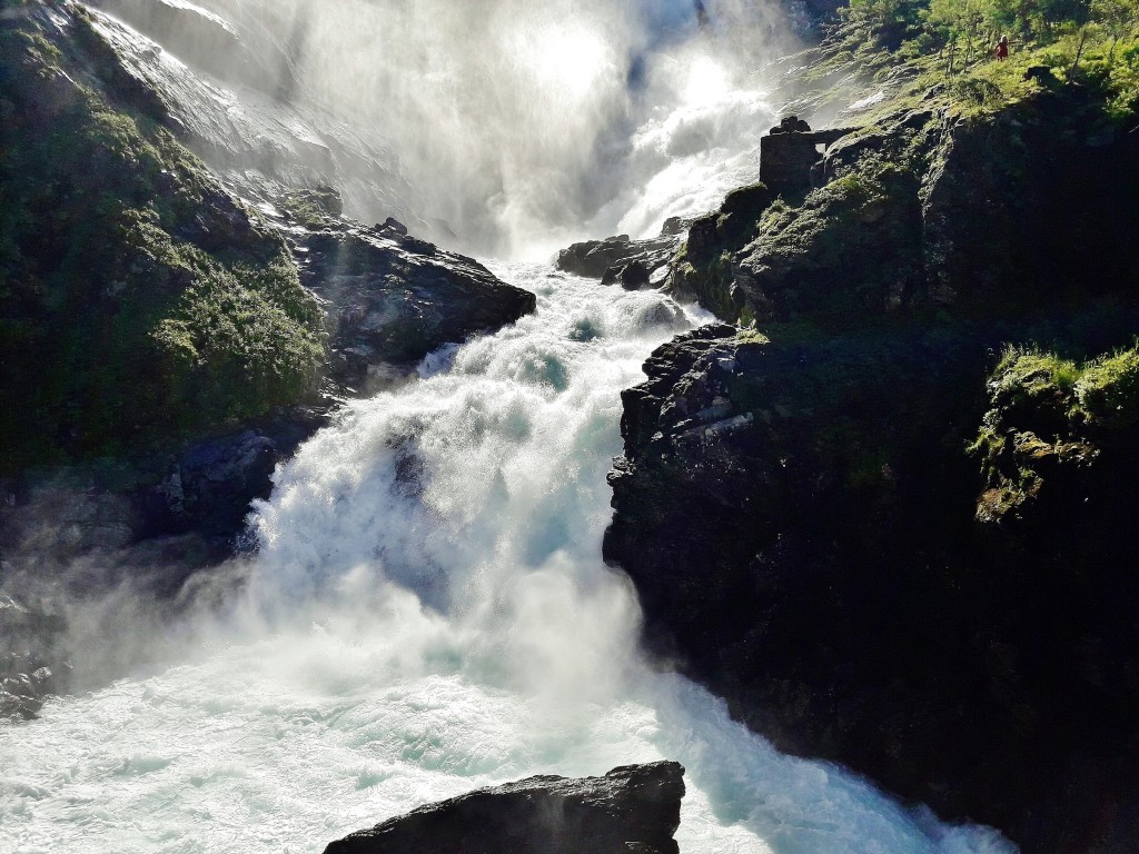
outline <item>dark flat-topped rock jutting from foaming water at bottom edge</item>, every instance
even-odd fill
[[[605,777],[532,777],[352,834],[325,854],[678,854],[685,770],[625,765]]]

